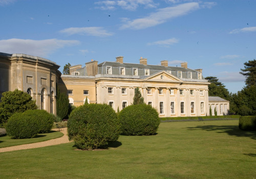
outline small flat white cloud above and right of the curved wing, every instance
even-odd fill
[[[113,33],[107,32],[102,27],[81,27],[81,28],[71,27],[71,28],[63,29],[59,32],[66,33],[68,35],[73,35],[73,34],[84,35],[84,34],[87,34],[87,35],[98,36],[98,37],[113,35]]]

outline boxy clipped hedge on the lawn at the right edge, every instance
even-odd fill
[[[242,130],[256,130],[256,116],[241,116],[239,128]]]

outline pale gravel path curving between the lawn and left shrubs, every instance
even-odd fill
[[[53,130],[58,130],[58,129],[53,129]],[[5,147],[5,148],[0,148],[0,152],[7,152],[7,151],[14,151],[14,150],[25,150],[25,149],[30,149],[30,148],[39,148],[39,147],[46,147],[50,145],[58,145],[58,144],[64,144],[64,143],[69,143],[68,135],[67,135],[67,127],[62,128],[60,130],[64,135],[60,138],[56,139],[51,139],[49,141],[43,141],[43,142],[37,142],[33,144],[24,144],[24,145],[16,145],[16,146],[11,146],[11,147]]]

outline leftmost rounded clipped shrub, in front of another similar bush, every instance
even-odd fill
[[[14,139],[33,138],[38,134],[38,122],[34,116],[16,113],[6,124],[7,135]]]

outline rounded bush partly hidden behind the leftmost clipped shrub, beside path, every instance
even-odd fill
[[[52,129],[53,122],[56,120],[56,117],[53,114],[40,109],[26,110],[23,115],[31,116],[36,119],[39,133],[49,132]]]

